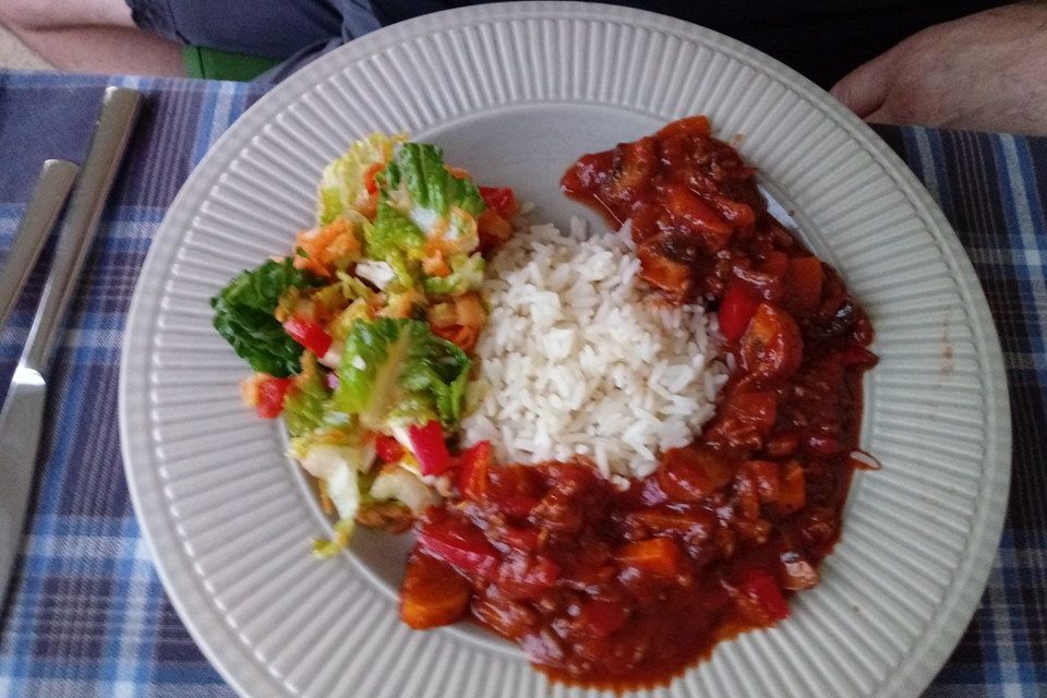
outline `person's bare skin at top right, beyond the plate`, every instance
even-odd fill
[[[866,121],[1047,135],[1047,3],[928,27],[830,92]]]

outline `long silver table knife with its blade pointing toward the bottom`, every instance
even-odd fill
[[[22,540],[40,444],[47,369],[141,106],[139,92],[122,87],[106,89],[84,169],[59,232],[40,304],[0,410],[0,600],[7,592]]]

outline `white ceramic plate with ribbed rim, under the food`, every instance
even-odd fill
[[[843,540],[793,617],[719,646],[658,696],[915,696],[973,613],[1010,472],[1000,349],[954,233],[904,165],[825,93],[723,36],[574,3],[478,7],[406,22],[321,59],[248,111],[196,168],[142,272],[123,347],[124,461],[160,576],[244,696],[581,696],[474,629],[397,618],[405,542],[329,531],[278,423],[240,402],[248,368],[207,299],[311,225],[325,163],[381,129],[435,142],[483,182],[589,212],[558,191],[579,155],[707,113],[876,329]],[[590,219],[592,217],[590,216]]]

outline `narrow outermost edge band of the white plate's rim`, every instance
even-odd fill
[[[275,87],[218,140],[191,173],[157,232],[136,284],[123,338],[119,390],[120,432],[131,498],[172,604],[207,659],[238,693],[243,696],[286,694],[282,684],[244,651],[236,634],[209,603],[207,593],[194,582],[192,565],[183,557],[176,525],[170,513],[163,507],[161,488],[149,445],[148,410],[144,408],[148,405],[146,375],[151,356],[146,349],[156,323],[152,311],[159,306],[166,273],[181,242],[181,234],[196,210],[195,203],[202,201],[217,182],[222,170],[220,166],[233,159],[276,112],[301,97],[313,85],[338,72],[341,67],[401,41],[456,26],[503,20],[561,19],[617,21],[685,36],[773,73],[790,89],[815,103],[838,128],[874,156],[915,207],[958,280],[961,299],[975,329],[972,339],[979,357],[984,359],[985,373],[982,377],[987,388],[986,409],[990,425],[995,417],[996,429],[989,432],[991,442],[988,445],[991,449],[986,452],[984,459],[986,470],[983,472],[982,492],[975,512],[983,525],[976,527],[975,535],[967,540],[956,577],[938,613],[934,615],[932,624],[924,628],[917,651],[905,658],[880,691],[882,695],[917,695],[948,658],[978,603],[1002,531],[1010,480],[1010,411],[1002,353],[987,300],[973,266],[941,210],[904,163],[868,127],[806,79],[755,49],[709,29],[650,12],[612,5],[504,3],[450,10],[386,27],[325,56]]]

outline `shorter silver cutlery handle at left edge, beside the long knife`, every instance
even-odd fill
[[[25,216],[14,233],[3,272],[0,273],[0,330],[8,324],[8,315],[40,256],[40,250],[65,205],[79,171],[79,166],[67,160],[44,163],[29,205],[25,207]]]

